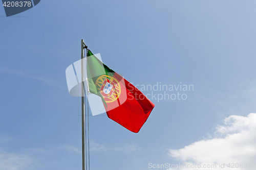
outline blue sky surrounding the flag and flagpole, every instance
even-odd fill
[[[194,85],[182,92],[186,100],[152,100],[156,106],[138,134],[105,113],[90,116],[92,169],[253,160],[255,7],[255,1],[42,0],[11,17],[0,8],[0,169],[81,169],[81,99],[69,94],[65,76],[80,59],[81,39],[134,85]],[[252,138],[240,140],[246,134]],[[214,152],[232,135],[240,137],[230,150]],[[241,147],[251,152],[225,155]]]

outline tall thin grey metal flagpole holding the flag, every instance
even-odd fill
[[[81,93],[82,93],[82,170],[86,170],[86,131],[84,130],[85,111],[86,111],[86,97],[84,93],[84,50],[83,39],[81,40]]]

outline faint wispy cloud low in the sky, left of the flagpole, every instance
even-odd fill
[[[70,144],[10,152],[4,146],[13,140],[12,137],[0,133],[0,144],[3,144],[0,145],[0,170],[56,169],[59,164],[62,165],[62,169],[68,169],[65,166],[73,164],[81,155],[79,148]]]

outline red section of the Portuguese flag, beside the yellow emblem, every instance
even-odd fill
[[[155,105],[130,82],[116,73],[114,77],[117,80],[122,79],[123,83],[119,82],[121,94],[116,101],[107,103],[107,107],[104,105],[106,114],[124,128],[138,133]],[[126,100],[120,102],[123,99]],[[118,107],[116,107],[117,105]]]

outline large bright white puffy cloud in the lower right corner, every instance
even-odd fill
[[[245,166],[252,169],[254,163],[256,168],[256,113],[250,113],[247,117],[231,115],[223,123],[216,127],[214,137],[199,140],[179,150],[169,150],[169,155],[190,164],[217,164],[217,168],[212,169],[218,169],[220,163],[225,163],[225,168],[220,169],[230,169],[228,163],[234,163],[235,168],[239,163],[237,165],[242,168],[236,169],[244,169]]]

